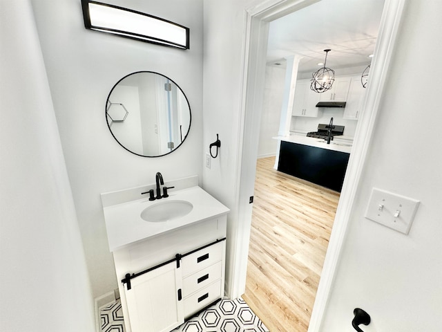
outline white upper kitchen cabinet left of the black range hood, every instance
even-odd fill
[[[317,118],[322,111],[316,107],[320,93],[310,89],[310,80],[298,80],[295,87],[292,116],[307,116]]]

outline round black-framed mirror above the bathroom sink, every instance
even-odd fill
[[[169,77],[151,71],[131,73],[113,86],[106,121],[124,149],[144,157],[170,154],[191,127],[189,101]]]

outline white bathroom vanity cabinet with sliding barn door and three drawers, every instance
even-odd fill
[[[127,332],[171,331],[224,295],[226,226],[223,214],[113,252]]]

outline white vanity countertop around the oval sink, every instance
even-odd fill
[[[145,208],[167,200],[189,201],[192,203],[193,209],[189,214],[171,221],[148,222],[141,218],[140,214]],[[198,186],[176,191],[170,190],[169,197],[165,199],[149,201],[148,197],[144,197],[135,201],[110,205],[104,207],[103,210],[111,251],[135,241],[182,228],[191,223],[215,218],[230,211],[229,208]]]

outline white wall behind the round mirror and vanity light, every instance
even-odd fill
[[[167,181],[202,172],[202,0],[106,2],[189,27],[191,49],[86,30],[79,0],[32,0],[95,297],[117,287],[100,193],[154,183],[156,172]],[[189,98],[191,131],[173,154],[135,156],[108,131],[108,93],[135,71],[169,76]]]

